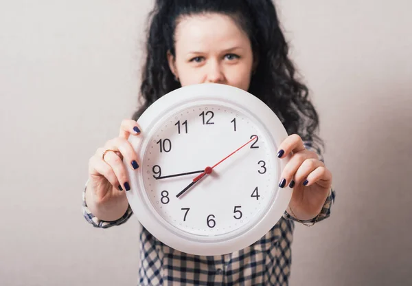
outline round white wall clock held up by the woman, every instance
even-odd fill
[[[154,102],[129,140],[141,168],[128,170],[130,207],[171,248],[196,255],[235,252],[258,241],[286,210],[279,188],[288,157],[279,118],[247,91],[190,85]]]

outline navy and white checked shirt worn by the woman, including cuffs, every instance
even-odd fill
[[[321,157],[319,148],[305,142]],[[96,228],[110,228],[126,222],[130,206],[117,221],[102,221],[87,208],[83,192],[84,217]],[[330,216],[334,190],[326,199],[318,221]],[[288,285],[294,221],[288,212],[260,240],[243,250],[225,255],[196,256],[174,250],[152,236],[146,228],[140,234],[139,285]],[[310,223],[312,221],[304,221]]]

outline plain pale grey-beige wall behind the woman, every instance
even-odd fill
[[[321,115],[332,217],[290,285],[411,285],[412,2],[277,1]],[[137,219],[81,214],[88,159],[137,107],[152,1],[0,1],[0,284],[136,285]]]

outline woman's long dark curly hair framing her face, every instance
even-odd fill
[[[271,0],[156,0],[149,14],[140,96],[141,107],[133,114],[137,120],[155,100],[181,87],[168,65],[167,52],[174,56],[174,31],[177,20],[194,14],[220,13],[231,17],[247,33],[258,65],[249,92],[270,107],[289,134],[304,140],[321,140],[315,131],[319,118],[308,100],[308,88],[296,78],[288,58],[288,44]]]

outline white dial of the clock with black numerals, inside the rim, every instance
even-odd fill
[[[157,126],[142,168],[148,198],[164,221],[210,238],[236,234],[265,212],[275,195],[277,164],[275,146],[257,120],[224,104],[194,104]]]

